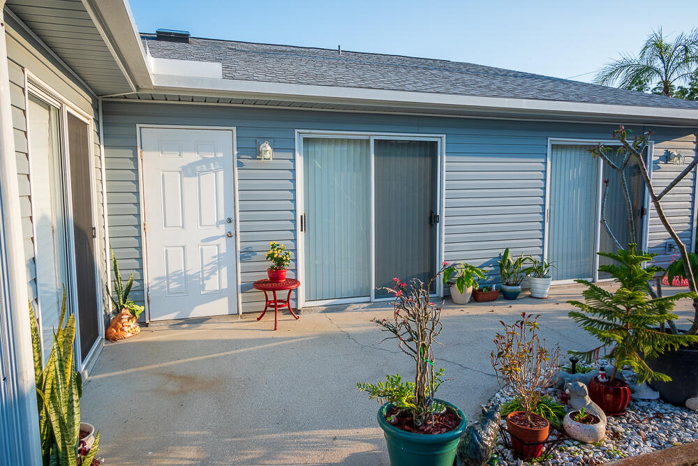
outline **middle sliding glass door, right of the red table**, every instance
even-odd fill
[[[438,263],[438,141],[302,137],[302,296],[387,298]],[[436,292],[436,287],[432,286]]]

